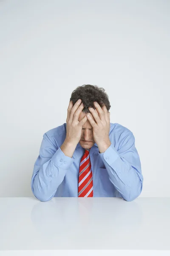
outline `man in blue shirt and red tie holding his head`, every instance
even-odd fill
[[[110,123],[110,107],[103,88],[86,84],[72,92],[66,123],[43,135],[31,178],[36,198],[133,201],[140,195],[143,176],[135,138],[129,129]]]

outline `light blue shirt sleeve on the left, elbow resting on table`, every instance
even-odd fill
[[[31,177],[34,196],[40,201],[53,198],[73,162],[74,158],[65,156],[54,139],[45,133]]]

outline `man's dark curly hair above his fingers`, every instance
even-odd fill
[[[105,93],[105,89],[102,87],[98,87],[97,85],[91,84],[83,84],[82,86],[78,86],[72,93],[70,101],[73,102],[73,105],[77,102],[78,99],[82,100],[84,108],[82,112],[91,113],[88,107],[94,107],[94,102],[99,103],[100,107],[105,104],[107,110],[111,108],[108,94]]]

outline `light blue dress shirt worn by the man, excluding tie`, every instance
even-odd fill
[[[43,135],[34,164],[31,189],[40,201],[53,197],[78,197],[80,160],[85,152],[78,143],[72,157],[60,146],[66,137],[66,123]],[[99,153],[95,143],[90,149],[94,197],[121,197],[133,201],[142,192],[143,176],[135,137],[126,127],[110,123],[111,145]]]

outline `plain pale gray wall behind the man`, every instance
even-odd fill
[[[141,197],[170,197],[170,1],[0,1],[0,196],[32,196],[42,135],[71,92],[105,88],[133,132]]]

